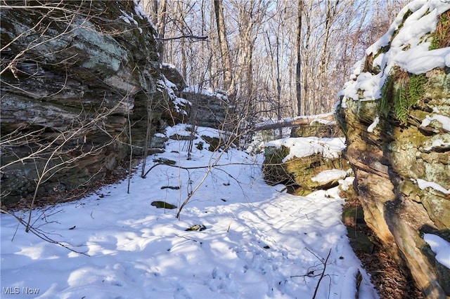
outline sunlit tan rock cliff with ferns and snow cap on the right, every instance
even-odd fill
[[[427,298],[450,270],[424,241],[450,241],[450,4],[413,1],[366,51],[336,115],[365,220]]]

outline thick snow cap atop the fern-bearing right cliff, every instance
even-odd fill
[[[426,36],[437,27],[437,16],[450,9],[450,1],[415,0],[407,4],[397,15],[386,34],[366,50],[373,55],[373,67],[381,72],[361,73],[364,60],[356,62],[352,81],[348,81],[338,96],[342,96],[341,105],[347,108],[347,100],[378,100],[385,79],[397,65],[411,74],[425,74],[437,67],[450,67],[450,47],[429,50],[430,39]],[[411,11],[403,26],[404,15]],[[395,35],[394,35],[395,34]],[[390,45],[386,53],[380,49]]]

